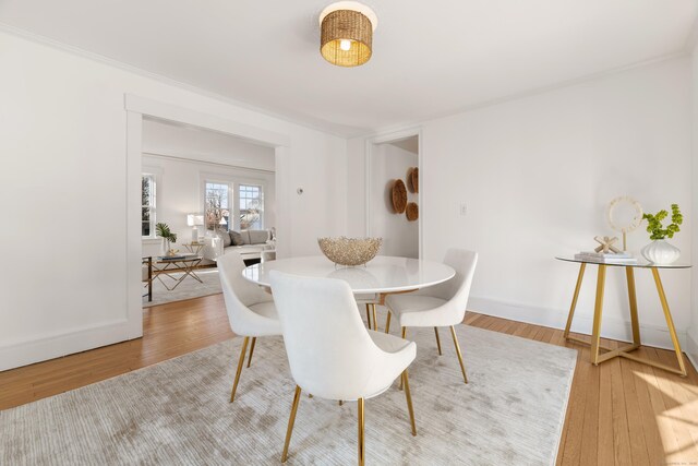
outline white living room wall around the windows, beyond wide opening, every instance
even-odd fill
[[[183,250],[181,244],[191,240],[192,227],[186,225],[186,214],[204,211],[202,179],[206,178],[263,186],[264,227],[268,229],[276,225],[276,186],[273,172],[147,154],[143,155],[143,167],[145,171],[155,169],[157,174],[156,218],[157,222],[168,224],[178,235],[177,243],[173,246],[176,249]],[[203,226],[200,226],[198,230],[201,236],[205,234]],[[143,255],[160,254],[160,240],[143,240]]]

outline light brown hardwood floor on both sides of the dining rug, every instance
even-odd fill
[[[0,409],[109,379],[233,336],[221,295],[144,310],[143,338],[0,372]],[[468,312],[466,323],[579,349],[558,465],[698,465],[698,373],[683,379],[627,359],[590,365],[559,330]],[[581,335],[577,335],[580,336]],[[468,343],[461,342],[464,350]],[[615,347],[617,342],[604,340]],[[640,354],[675,365],[673,353]],[[231,361],[232,363],[232,361]]]

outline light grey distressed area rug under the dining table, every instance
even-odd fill
[[[553,465],[576,350],[458,326],[412,333],[410,434],[397,383],[365,403],[366,464]],[[228,403],[242,338],[0,413],[0,464],[278,465],[294,383],[282,339],[260,338]],[[288,465],[357,462],[357,404],[301,399]]]

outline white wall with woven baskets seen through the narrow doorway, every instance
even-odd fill
[[[370,225],[371,236],[383,238],[381,255],[419,258],[419,220],[408,222],[405,214],[396,214],[392,201],[395,179],[409,187],[409,169],[417,165],[417,154],[393,144],[376,144],[371,151]],[[408,188],[408,202],[418,202],[417,198]]]

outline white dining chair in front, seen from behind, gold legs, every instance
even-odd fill
[[[359,464],[364,463],[364,401],[382,394],[400,377],[405,385],[412,435],[417,435],[407,368],[417,345],[366,330],[349,285],[339,279],[269,274],[284,331],[296,395],[288,420],[281,462],[288,457],[301,391],[315,397],[357,401]]]

